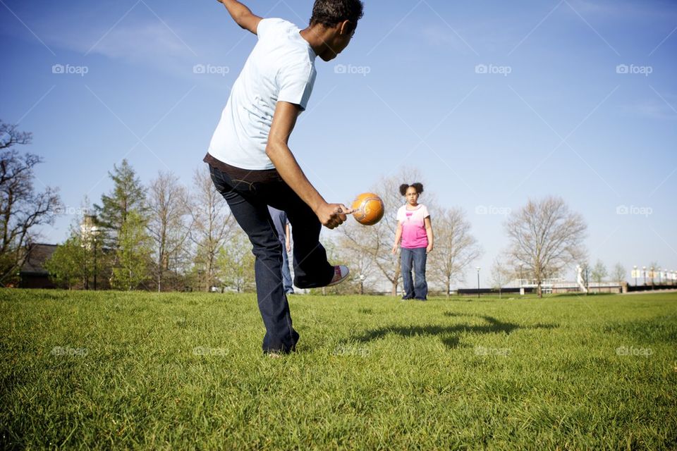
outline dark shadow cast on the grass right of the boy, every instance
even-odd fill
[[[474,333],[477,335],[485,333],[513,333],[520,329],[554,329],[559,327],[558,324],[543,324],[537,323],[534,326],[520,326],[516,323],[509,323],[499,321],[493,316],[488,315],[461,315],[452,312],[446,312],[444,316],[458,317],[458,316],[474,316],[481,318],[487,324],[470,326],[469,324],[454,324],[453,326],[386,326],[382,328],[367,330],[362,335],[353,337],[353,341],[370,342],[372,340],[379,340],[386,335],[394,334],[401,337],[417,337],[425,335],[434,335],[441,337],[441,341],[446,347],[454,349],[460,346],[458,340],[459,333]]]

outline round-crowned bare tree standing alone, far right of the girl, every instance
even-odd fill
[[[523,266],[535,278],[538,295],[542,283],[576,261],[583,261],[587,226],[583,216],[569,211],[560,197],[527,202],[505,224],[514,266]]]

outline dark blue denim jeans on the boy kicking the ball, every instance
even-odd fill
[[[255,255],[254,273],[259,310],[266,328],[264,352],[291,352],[298,342],[281,277],[283,245],[268,205],[286,212],[294,240],[294,283],[298,288],[323,287],[334,277],[334,267],[319,244],[322,224],[303,200],[277,175],[266,182],[234,180],[209,166],[216,190],[228,202],[233,217],[248,235]]]

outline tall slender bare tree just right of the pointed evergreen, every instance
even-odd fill
[[[173,173],[159,172],[150,183],[148,206],[154,276],[157,290],[161,291],[166,288],[167,273],[176,273],[188,254],[185,246],[190,230],[188,191]]]

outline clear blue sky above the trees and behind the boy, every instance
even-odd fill
[[[304,25],[312,1],[248,6]],[[215,0],[0,0],[0,39],[0,118],[33,132],[37,187],[75,212],[123,158],[188,185],[256,38]],[[673,1],[367,0],[348,49],[317,60],[291,147],[330,202],[418,168],[487,270],[505,213],[549,194],[585,217],[591,261],[675,270],[675,55]]]

